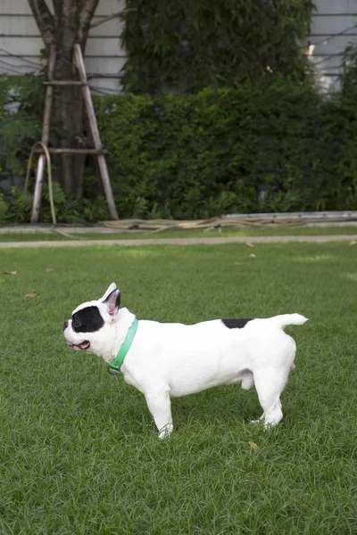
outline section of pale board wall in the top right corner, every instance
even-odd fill
[[[311,62],[324,89],[338,88],[342,54],[350,44],[357,45],[357,0],[315,0],[311,24]]]

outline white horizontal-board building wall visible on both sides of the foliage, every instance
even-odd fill
[[[52,2],[47,0],[50,6]],[[100,0],[94,22],[124,9],[125,0]],[[311,25],[311,62],[324,88],[336,85],[342,54],[357,45],[357,0],[315,0]],[[120,44],[118,17],[90,30],[86,68],[92,89],[99,95],[120,91],[120,70],[126,55]],[[305,45],[307,45],[307,40]],[[43,48],[28,0],[0,0],[0,74],[21,75],[41,68]]]

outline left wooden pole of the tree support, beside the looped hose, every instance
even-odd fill
[[[51,45],[50,48],[50,59],[48,62],[48,71],[47,76],[49,81],[52,81],[54,78],[54,65],[55,65],[55,46]],[[48,139],[50,134],[50,122],[51,122],[51,107],[52,100],[54,96],[54,86],[47,86],[46,88],[46,100],[45,100],[45,111],[44,111],[44,123],[42,128],[42,143],[48,145]],[[32,203],[32,214],[31,214],[31,223],[37,223],[39,217],[39,210],[41,209],[41,195],[42,195],[42,184],[44,180],[44,169],[45,169],[45,154],[41,154],[38,158],[37,163],[37,174],[36,174],[36,184],[35,184],[35,193]]]

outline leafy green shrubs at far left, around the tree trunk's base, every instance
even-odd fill
[[[13,179],[16,176],[25,176],[30,148],[41,138],[43,95],[41,76],[0,76],[0,144],[4,146],[4,154],[0,154],[0,171],[3,171],[6,177]],[[51,136],[54,136],[54,133],[52,128]],[[53,141],[51,137],[51,142]],[[54,183],[53,187],[54,206],[59,223],[83,220],[95,222],[109,218],[104,196],[99,194],[93,175],[86,173],[84,177],[86,197],[80,202],[66,198],[58,183]],[[33,202],[32,190],[33,183],[28,193],[23,193],[14,186],[11,192],[6,192],[5,195],[0,193],[0,223],[29,222]],[[46,180],[40,220],[52,222]]]

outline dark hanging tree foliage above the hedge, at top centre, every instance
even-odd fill
[[[306,72],[299,46],[311,0],[128,0],[123,43],[129,92],[195,92]]]

